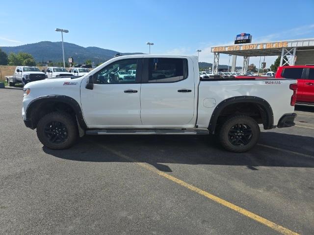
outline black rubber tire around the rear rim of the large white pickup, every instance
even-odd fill
[[[243,144],[242,146],[237,146],[232,143],[232,141],[236,141],[235,138],[237,136],[233,137],[232,135],[235,135],[233,132],[236,132],[234,127],[236,125],[239,125],[245,128],[249,127],[250,132],[252,134],[251,139],[248,141],[247,144]],[[231,133],[232,131],[232,133]],[[241,131],[240,131],[241,133]],[[220,144],[228,151],[235,152],[235,153],[241,153],[246,152],[250,150],[254,145],[258,142],[260,138],[260,127],[258,123],[251,117],[245,116],[245,115],[236,115],[232,116],[230,118],[227,118],[223,123],[221,123],[221,127],[218,132],[218,139]],[[232,135],[231,135],[232,134]],[[236,135],[239,135],[239,133],[236,133]],[[247,134],[245,134],[247,135]],[[242,134],[243,137],[243,134]],[[232,139],[234,138],[234,139]],[[232,139],[232,140],[231,140]],[[241,137],[239,137],[241,139]],[[247,138],[246,138],[247,139]],[[242,141],[242,140],[241,140]],[[247,140],[246,140],[247,141]],[[241,142],[240,142],[241,143]]]

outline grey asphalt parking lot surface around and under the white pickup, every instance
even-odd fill
[[[208,136],[86,136],[50,150],[0,90],[0,234],[314,234],[314,107],[242,154]]]

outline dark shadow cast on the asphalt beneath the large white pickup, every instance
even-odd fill
[[[286,141],[290,146],[303,143],[303,147],[314,148],[312,144],[306,146],[314,142],[312,137],[275,132],[261,135],[262,144],[279,140],[282,143]],[[297,142],[294,143],[295,140]],[[295,152],[302,153],[300,147],[296,149]],[[314,157],[260,145],[246,153],[230,153],[222,149],[213,136],[85,136],[70,149],[43,147],[43,150],[49,155],[71,161],[142,162],[165,172],[172,171],[167,164],[243,165],[251,170],[258,170],[258,166],[314,167]]]

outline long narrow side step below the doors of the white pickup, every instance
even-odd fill
[[[208,129],[89,129],[86,135],[208,135]]]

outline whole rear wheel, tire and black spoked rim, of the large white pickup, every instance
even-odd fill
[[[245,152],[259,140],[260,127],[251,117],[237,115],[222,123],[219,131],[221,145],[231,152]]]

